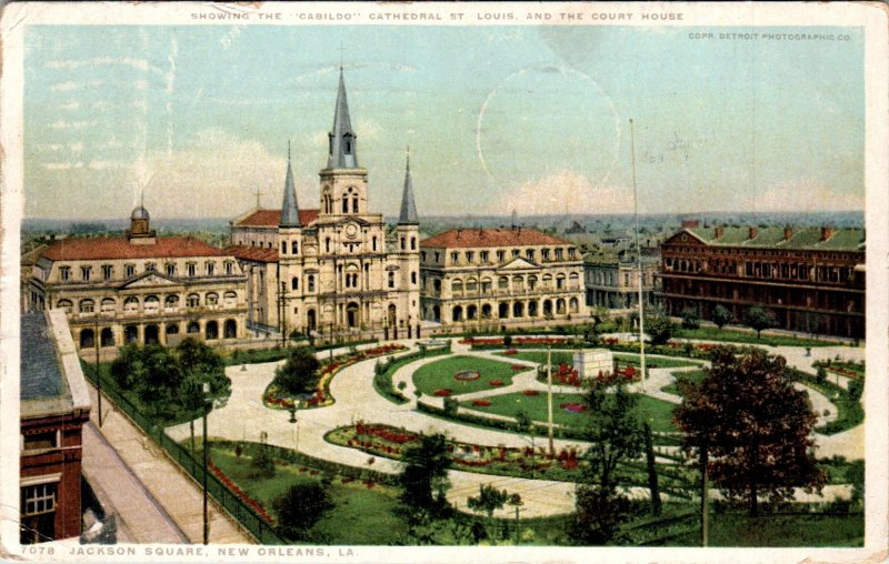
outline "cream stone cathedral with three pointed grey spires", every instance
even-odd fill
[[[368,209],[368,171],[358,162],[346,82],[319,172],[317,209],[300,209],[288,149],[281,209],[256,208],[231,222],[231,245],[248,275],[248,326],[256,333],[329,335],[376,332],[419,336],[420,239],[404,174],[394,231]]]

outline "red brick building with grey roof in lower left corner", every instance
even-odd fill
[[[78,536],[90,399],[62,310],[22,314],[20,377],[20,541]]]

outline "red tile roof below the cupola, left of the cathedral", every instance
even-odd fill
[[[190,236],[160,236],[154,244],[132,244],[126,236],[69,238],[42,256],[53,261],[223,256],[222,250]]]

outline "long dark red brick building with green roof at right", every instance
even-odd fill
[[[662,300],[710,320],[722,304],[742,321],[762,305],[778,329],[865,336],[865,231],[831,228],[697,228],[661,245]]]

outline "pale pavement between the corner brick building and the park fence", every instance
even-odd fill
[[[106,510],[119,515],[127,540],[202,543],[200,486],[107,397],[102,400],[103,425],[99,429],[98,396],[92,385],[90,396],[93,409],[84,432],[84,473],[94,480],[90,483],[97,495],[112,504]],[[209,513],[210,543],[253,543],[212,498]]]

